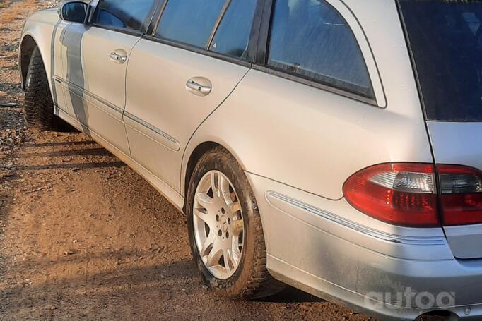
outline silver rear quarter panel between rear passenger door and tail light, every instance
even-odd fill
[[[433,161],[421,115],[373,107],[256,70],[191,144],[203,140],[227,147],[252,174],[331,200],[343,198],[343,183],[367,166]]]

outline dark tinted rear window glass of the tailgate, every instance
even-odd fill
[[[399,1],[431,121],[482,121],[482,2]]]

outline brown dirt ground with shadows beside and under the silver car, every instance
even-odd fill
[[[201,285],[184,216],[81,133],[23,123],[23,19],[0,0],[0,320],[370,320],[295,289],[257,302]]]

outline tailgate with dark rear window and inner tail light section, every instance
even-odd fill
[[[439,169],[445,235],[456,258],[482,258],[482,4],[399,0],[399,8]]]

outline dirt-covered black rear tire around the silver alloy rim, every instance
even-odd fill
[[[242,258],[236,272],[229,279],[217,279],[204,265],[194,236],[194,194],[201,178],[208,171],[221,171],[236,190],[242,208],[245,227]],[[274,295],[286,286],[276,281],[266,269],[266,246],[261,217],[249,181],[236,159],[225,148],[216,147],[207,152],[194,169],[187,195],[187,227],[194,262],[201,272],[204,283],[223,296],[253,300]]]

